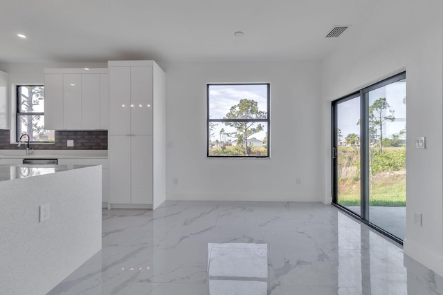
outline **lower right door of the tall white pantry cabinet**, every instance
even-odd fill
[[[131,203],[152,204],[152,135],[131,136]]]

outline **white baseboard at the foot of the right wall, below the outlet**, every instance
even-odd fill
[[[403,251],[405,255],[428,267],[436,274],[443,276],[443,258],[441,256],[437,256],[414,242],[410,242],[408,238],[403,240]],[[407,267],[407,265],[405,266]]]

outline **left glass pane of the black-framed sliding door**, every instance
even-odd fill
[[[337,142],[337,203],[360,215],[360,96],[337,104]]]

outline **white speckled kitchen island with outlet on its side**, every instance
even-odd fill
[[[100,165],[0,165],[0,294],[46,294],[100,251],[101,207]]]

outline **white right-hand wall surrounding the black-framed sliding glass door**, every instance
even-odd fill
[[[401,4],[401,5],[399,5]],[[407,209],[404,253],[443,275],[442,1],[386,1],[361,35],[323,61],[325,202],[330,200],[330,102],[406,69]],[[395,16],[395,17],[394,17]],[[352,33],[352,32],[351,32]],[[377,40],[377,41],[375,41]],[[417,150],[413,137],[426,136]],[[328,189],[326,189],[328,188]],[[423,213],[423,226],[413,213]]]

